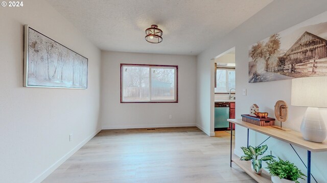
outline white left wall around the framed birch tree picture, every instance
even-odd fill
[[[88,89],[22,87],[24,24],[88,58]],[[0,26],[0,182],[40,182],[100,129],[101,52],[45,1],[0,7]]]

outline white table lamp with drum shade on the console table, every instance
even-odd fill
[[[327,76],[292,79],[291,105],[308,107],[301,123],[303,138],[323,142],[327,130],[318,107],[327,107]]]

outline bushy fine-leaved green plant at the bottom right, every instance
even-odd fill
[[[267,162],[267,169],[269,170],[271,176],[278,176],[281,179],[284,178],[292,180],[296,183],[299,183],[299,178],[304,180],[303,176],[307,177],[293,163],[284,161],[280,158],[278,159],[278,161],[271,160]]]

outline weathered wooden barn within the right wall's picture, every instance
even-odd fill
[[[287,66],[325,58],[327,57],[326,45],[327,40],[305,32],[284,55],[278,56],[279,65]]]

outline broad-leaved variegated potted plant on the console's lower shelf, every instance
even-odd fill
[[[241,147],[244,154],[241,157],[241,160],[245,160],[245,161],[250,161],[252,162],[252,166],[251,169],[254,173],[256,174],[260,174],[262,171],[262,161],[268,161],[268,160],[272,160],[273,156],[268,155],[268,156],[264,156],[261,159],[258,159],[260,155],[263,155],[266,150],[268,149],[267,145],[262,145],[259,147]]]

